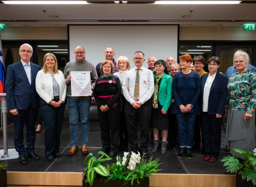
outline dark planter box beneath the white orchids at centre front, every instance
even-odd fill
[[[123,186],[123,180],[109,180],[108,182],[105,182],[104,180],[96,179],[93,182],[93,187],[104,187],[104,186],[111,186],[111,187],[121,187]],[[130,186],[138,186],[137,181],[133,182],[133,185],[131,185],[131,181],[129,181],[125,187]],[[148,187],[149,186],[149,179],[147,180],[139,180],[139,187]],[[85,180],[82,180],[82,187],[90,187],[90,184],[88,182],[85,182]]]

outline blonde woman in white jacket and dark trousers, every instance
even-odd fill
[[[53,53],[47,53],[43,59],[44,66],[36,75],[36,91],[40,96],[40,108],[46,130],[44,142],[46,159],[53,162],[60,158],[60,133],[63,125],[66,81],[58,70],[57,59]]]

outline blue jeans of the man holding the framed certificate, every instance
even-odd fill
[[[92,97],[83,97],[81,99],[73,99],[68,97],[68,114],[72,146],[78,146],[79,138],[79,114],[81,121],[81,145],[86,146],[89,133],[89,111]]]

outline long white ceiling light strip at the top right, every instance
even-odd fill
[[[158,5],[230,5],[241,1],[156,1]]]

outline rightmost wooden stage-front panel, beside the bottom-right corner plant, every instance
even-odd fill
[[[189,175],[189,187],[236,187],[236,175]]]

